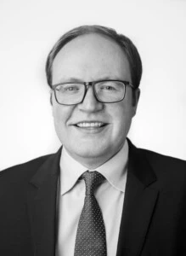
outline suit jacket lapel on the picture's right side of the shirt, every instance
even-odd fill
[[[142,151],[128,143],[127,185],[117,256],[140,255],[158,197],[155,173]]]

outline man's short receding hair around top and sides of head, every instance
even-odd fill
[[[65,44],[68,44],[74,38],[79,36],[89,34],[89,33],[98,33],[104,37],[111,38],[116,44],[121,46],[124,54],[127,56],[129,62],[130,72],[132,76],[132,84],[134,88],[138,88],[142,76],[142,61],[140,55],[138,54],[138,49],[132,43],[132,41],[122,34],[118,34],[116,30],[106,27],[106,26],[78,26],[69,32],[66,32],[56,44],[54,44],[53,49],[51,49],[47,63],[46,63],[46,74],[48,85],[52,87],[52,72],[53,72],[53,61],[55,56],[59,53],[59,50],[62,49]]]

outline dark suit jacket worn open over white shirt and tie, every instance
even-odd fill
[[[60,152],[0,172],[1,256],[54,256]],[[186,255],[185,161],[129,142],[121,255]]]

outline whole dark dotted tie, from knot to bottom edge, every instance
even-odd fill
[[[104,219],[93,193],[103,182],[99,172],[84,172],[86,195],[76,233],[74,256],[106,256]]]

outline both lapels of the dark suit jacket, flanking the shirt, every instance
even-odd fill
[[[116,256],[139,255],[158,198],[155,172],[144,152],[129,140],[128,145],[127,185]],[[61,148],[50,155],[28,186],[28,212],[36,256],[54,256],[55,252],[60,154]]]

